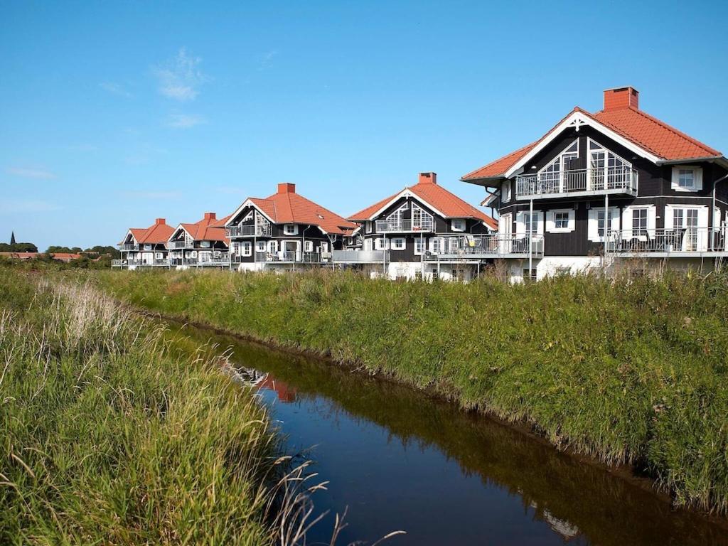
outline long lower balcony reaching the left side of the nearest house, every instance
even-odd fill
[[[428,252],[428,261],[478,260],[488,258],[542,258],[543,235],[488,234],[443,237],[437,253]]]

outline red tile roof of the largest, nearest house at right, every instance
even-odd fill
[[[706,146],[702,142],[695,140],[695,138],[678,131],[674,127],[646,114],[634,106],[608,108],[598,111],[596,114],[590,114],[590,112],[578,106],[574,107],[571,113],[574,111],[579,111],[591,119],[596,120],[605,127],[628,139],[628,141],[635,143],[640,148],[649,151],[665,161],[722,157],[721,152],[716,149]],[[566,117],[563,119],[566,119]],[[538,141],[513,151],[500,159],[496,159],[484,167],[467,173],[461,180],[473,181],[483,178],[501,178],[513,165],[528,154],[534,146],[537,146],[538,143],[544,140],[555,127],[558,127],[559,124],[561,122],[558,122],[542,138],[539,138]]]

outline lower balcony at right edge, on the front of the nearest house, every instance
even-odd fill
[[[728,256],[728,233],[721,228],[622,229],[607,233],[606,253],[630,257]]]

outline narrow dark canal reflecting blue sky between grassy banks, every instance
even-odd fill
[[[215,344],[262,374],[289,453],[314,460],[330,514],[309,534],[337,544],[728,545],[728,531],[483,416],[406,387],[209,331],[170,325],[180,346]],[[182,340],[185,341],[182,341]]]

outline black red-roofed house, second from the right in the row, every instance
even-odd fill
[[[349,216],[358,224],[337,263],[389,279],[470,280],[493,255],[498,224],[438,184],[436,173]]]

